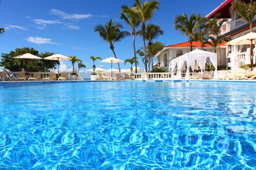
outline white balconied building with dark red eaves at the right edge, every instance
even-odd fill
[[[250,3],[250,0],[243,0],[244,2]],[[231,15],[230,6],[235,0],[226,0],[220,6],[215,8],[211,13],[207,15],[207,18],[211,19],[214,14],[219,14],[219,19],[229,19],[227,24],[222,25],[221,34],[231,40],[244,36],[250,32],[250,25],[236,12]],[[253,21],[253,32],[256,32],[256,16]],[[255,63],[255,51],[253,47],[253,63]],[[246,45],[228,45],[227,46],[227,67],[231,70],[238,69],[244,64],[250,64],[250,44]]]

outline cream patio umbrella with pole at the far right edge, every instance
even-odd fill
[[[247,33],[244,36],[238,37],[236,39],[233,39],[227,43],[227,45],[245,45],[245,44],[250,44],[250,59],[251,59],[251,70],[252,70],[252,65],[253,65],[253,48],[252,45],[256,44],[256,33],[255,32],[250,32]]]

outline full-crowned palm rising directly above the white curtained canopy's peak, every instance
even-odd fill
[[[203,18],[201,14],[196,15],[192,13],[188,18],[187,14],[177,15],[174,19],[174,27],[180,30],[183,35],[188,36],[190,43],[190,52],[192,51],[193,36],[195,35],[196,29],[199,25],[205,23],[206,18]]]

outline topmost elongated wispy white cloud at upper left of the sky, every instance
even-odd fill
[[[82,20],[86,18],[91,18],[93,16],[91,14],[68,14],[66,12],[56,10],[56,9],[52,9],[50,11],[50,14],[62,16],[63,19],[75,19],[75,20]]]

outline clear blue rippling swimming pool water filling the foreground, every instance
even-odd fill
[[[0,169],[256,169],[256,83],[0,89]]]

